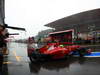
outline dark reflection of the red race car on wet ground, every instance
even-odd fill
[[[70,58],[67,60],[62,59],[62,60],[53,60],[53,61],[46,61],[46,62],[30,62],[29,66],[30,66],[30,71],[33,73],[38,73],[41,68],[59,71],[60,69],[63,68],[69,68],[70,64],[74,62],[83,63],[85,60],[85,58],[80,60],[79,59],[80,58],[78,59]]]

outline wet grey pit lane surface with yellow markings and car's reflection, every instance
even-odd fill
[[[99,57],[70,57],[46,62],[30,62],[26,44],[10,44],[10,54],[2,75],[100,75]]]

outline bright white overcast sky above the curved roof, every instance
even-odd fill
[[[100,0],[5,0],[5,22],[27,30],[9,32],[19,32],[21,37],[34,36],[47,29],[47,23],[96,8],[100,8]]]

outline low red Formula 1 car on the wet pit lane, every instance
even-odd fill
[[[39,49],[28,49],[28,56],[31,61],[61,59],[78,54],[84,56],[90,54],[91,49],[79,45],[64,46],[57,43],[47,44]]]

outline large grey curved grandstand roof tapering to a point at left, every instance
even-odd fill
[[[57,28],[62,26],[80,25],[86,23],[100,22],[100,9],[89,10],[64,17],[54,22],[48,23],[45,26]]]

